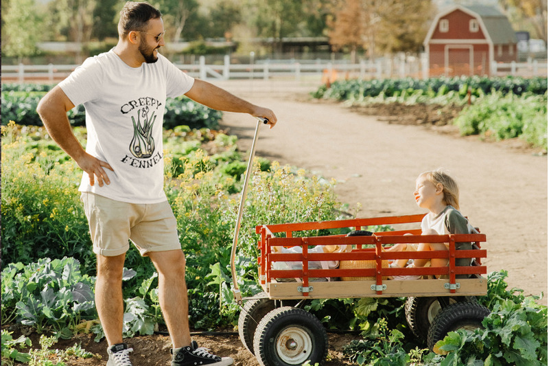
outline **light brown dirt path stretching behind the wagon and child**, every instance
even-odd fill
[[[526,295],[547,293],[546,155],[307,102],[314,83],[217,84],[277,114],[276,128],[261,130],[257,156],[336,179],[339,200],[362,205],[359,217],[421,213],[412,199],[418,174],[447,170],[460,184],[461,211],[487,233],[488,271],[509,271],[509,285]],[[254,119],[226,113],[222,126],[250,147]]]

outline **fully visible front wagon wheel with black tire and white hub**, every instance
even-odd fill
[[[261,366],[296,366],[309,361],[322,366],[328,335],[322,323],[303,309],[283,306],[257,325],[253,347]]]

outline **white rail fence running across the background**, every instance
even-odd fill
[[[384,58],[376,61],[362,60],[359,63],[331,62],[316,60],[303,62],[298,60],[263,60],[249,64],[231,64],[225,56],[219,65],[207,65],[205,57],[200,56],[198,64],[178,65],[179,69],[195,78],[230,80],[294,78],[299,81],[307,76],[322,77],[325,80],[337,78],[428,78],[429,65],[425,55],[419,58]],[[2,65],[2,82],[56,82],[69,76],[78,65]],[[547,62],[529,60],[508,64],[493,62],[491,75],[547,76]]]

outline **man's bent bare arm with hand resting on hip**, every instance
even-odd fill
[[[72,108],[74,108],[74,104],[65,92],[56,86],[40,100],[36,111],[51,138],[76,161],[80,169],[89,174],[90,184],[94,185],[95,176],[97,176],[97,183],[100,187],[103,186],[103,182],[109,184],[110,181],[103,168],[110,170],[113,168],[108,163],[92,157],[82,148],[73,134],[67,117],[67,112]]]

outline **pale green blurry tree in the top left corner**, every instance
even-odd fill
[[[4,8],[2,4],[2,36],[5,43],[2,52],[6,56],[24,57],[38,52],[36,43],[40,41],[43,21],[38,15],[34,0],[11,0]]]

